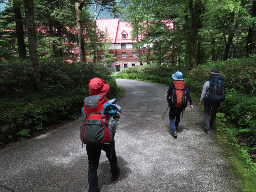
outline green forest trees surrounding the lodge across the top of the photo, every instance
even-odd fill
[[[28,31],[24,2],[10,0],[1,5],[6,8],[1,12],[0,58],[26,59]],[[70,57],[70,42],[77,43],[82,53],[94,50],[96,57],[101,42],[93,20],[101,19],[104,10],[111,17],[130,23],[141,62],[143,48],[155,53],[145,56],[148,63],[177,62],[190,68],[206,61],[255,55],[255,1],[121,0],[116,4],[112,0],[34,0],[34,5],[39,57]],[[88,11],[92,8],[93,14]],[[81,13],[77,15],[78,10]]]

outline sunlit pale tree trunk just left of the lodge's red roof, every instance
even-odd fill
[[[76,24],[77,24],[77,36],[79,43],[80,61],[85,63],[84,53],[84,34],[83,34],[83,21],[82,21],[82,8],[84,0],[76,0]]]

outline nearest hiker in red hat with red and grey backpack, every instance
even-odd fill
[[[99,167],[101,150],[106,152],[106,156],[110,163],[111,180],[116,181],[120,169],[117,166],[116,149],[114,135],[116,127],[113,130],[109,121],[112,116],[119,116],[120,111],[113,109],[113,104],[108,103],[105,97],[109,90],[106,81],[96,77],[89,83],[89,92],[91,96],[84,99],[84,115],[83,124],[80,127],[80,139],[86,144],[86,152],[88,155],[88,192],[99,192],[97,170]],[[111,114],[104,112],[103,106],[111,105]],[[119,106],[120,107],[120,106]],[[122,112],[122,111],[121,111]],[[83,146],[83,145],[82,145]]]

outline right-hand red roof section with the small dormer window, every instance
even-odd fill
[[[126,38],[122,38],[123,31],[126,32]],[[116,32],[116,42],[115,43],[133,43],[132,37],[132,27],[128,22],[119,22],[117,32]]]

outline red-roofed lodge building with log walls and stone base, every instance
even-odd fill
[[[109,70],[120,71],[127,67],[132,67],[135,65],[140,65],[139,54],[136,48],[133,47],[134,41],[132,38],[132,27],[128,22],[120,22],[119,19],[99,19],[96,20],[97,28],[100,31],[108,31],[108,38],[111,42],[110,49],[108,53],[113,54],[116,59],[113,62],[106,63],[102,61],[105,59],[105,50],[97,50],[97,62],[101,62],[103,65],[107,66]],[[173,23],[168,22],[169,30],[172,30]],[[144,45],[141,50],[142,56],[148,54],[147,46],[152,46],[152,44]],[[74,55],[76,55],[77,60],[80,60],[79,47],[74,48]],[[154,52],[150,51],[150,55]],[[142,60],[143,63],[147,59]],[[93,55],[90,53],[85,53],[85,61],[93,62]]]

